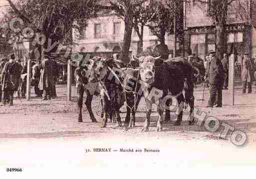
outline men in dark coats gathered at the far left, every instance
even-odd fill
[[[58,76],[57,63],[53,58],[44,55],[40,62],[32,62],[32,86],[37,97],[42,100],[50,100],[56,97],[56,78]],[[3,105],[13,105],[13,94],[25,96],[27,65],[21,65],[14,54],[3,56],[0,62],[0,102]]]

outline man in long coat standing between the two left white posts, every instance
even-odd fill
[[[52,81],[53,81],[52,60],[48,58],[48,55],[44,55],[44,59],[42,60],[42,63],[41,63],[40,80],[38,84],[38,88],[43,91],[42,100],[51,99]]]

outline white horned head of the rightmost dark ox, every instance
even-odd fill
[[[155,79],[155,61],[160,58],[153,56],[140,57],[139,59],[133,57],[135,60],[140,61],[140,76],[141,80],[152,84]]]

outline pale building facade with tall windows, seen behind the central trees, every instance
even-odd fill
[[[114,11],[103,13],[97,18],[90,19],[86,30],[81,36],[73,35],[77,44],[73,50],[90,53],[114,53],[120,52],[123,43],[124,21],[114,14]],[[173,35],[166,36],[166,44],[173,49]],[[139,37],[133,29],[130,55],[137,54]],[[159,44],[157,36],[145,26],[143,34],[143,49]],[[178,47],[179,48],[179,47]]]

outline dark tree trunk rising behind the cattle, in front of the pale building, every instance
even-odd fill
[[[129,12],[128,12],[129,13]],[[125,63],[128,63],[128,56],[129,56],[129,49],[132,40],[132,16],[125,15],[124,19],[124,39],[123,39],[123,46],[120,55],[120,59],[123,60]]]

